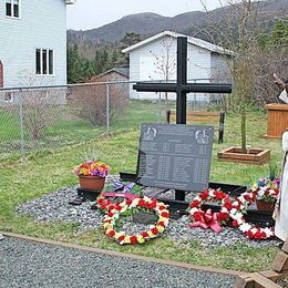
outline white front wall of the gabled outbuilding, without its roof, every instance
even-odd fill
[[[169,53],[171,61],[176,63],[176,50],[177,39],[172,37],[173,48]],[[157,39],[145,45],[142,45],[130,52],[130,80],[131,81],[151,81],[151,80],[165,80],[165,74],[160,72],[157,69],[156,56],[164,56],[167,54],[165,48],[162,44],[163,39]],[[160,61],[158,61],[160,63]],[[188,43],[187,49],[187,78],[191,82],[209,82],[210,79],[210,52],[203,48]],[[176,66],[173,75],[169,80],[176,80]],[[206,81],[205,81],[206,80]],[[151,92],[138,93],[130,88],[130,96],[133,99],[158,99],[160,95]],[[164,93],[162,93],[164,97]],[[175,100],[175,93],[168,93],[168,97]],[[194,100],[195,94],[188,94],[188,100]],[[206,95],[197,94],[197,99],[206,99]]]

